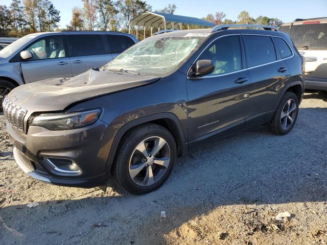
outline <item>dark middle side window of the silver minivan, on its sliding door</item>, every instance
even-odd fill
[[[68,35],[71,57],[105,54],[101,35]]]

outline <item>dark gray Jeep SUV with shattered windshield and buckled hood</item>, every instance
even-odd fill
[[[13,89],[4,112],[17,164],[48,183],[104,186],[111,175],[143,194],[209,139],[263,124],[289,133],[304,61],[287,34],[245,27],[155,35],[100,69]]]

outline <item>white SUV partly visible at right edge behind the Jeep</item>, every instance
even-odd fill
[[[306,88],[327,90],[327,17],[295,19],[279,31],[289,34],[305,57]]]

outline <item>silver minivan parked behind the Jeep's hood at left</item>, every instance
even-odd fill
[[[118,32],[48,32],[26,35],[0,51],[0,109],[18,85],[74,77],[101,67],[137,42]]]

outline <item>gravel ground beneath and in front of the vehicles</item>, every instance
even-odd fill
[[[33,180],[0,115],[0,243],[326,244],[327,94],[306,93],[300,107],[290,134],[262,127],[203,146],[143,196]]]

